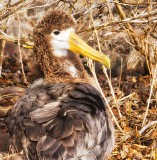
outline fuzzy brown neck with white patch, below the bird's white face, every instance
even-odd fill
[[[63,83],[90,83],[89,75],[75,53],[69,52],[63,56],[55,54],[42,55],[39,59],[46,80]]]

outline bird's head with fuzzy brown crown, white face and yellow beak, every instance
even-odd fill
[[[108,57],[81,40],[76,35],[74,28],[75,21],[71,15],[68,15],[64,11],[53,10],[37,24],[34,30],[34,37],[36,38],[37,33],[37,36],[44,43],[43,34],[47,36],[49,38],[49,45],[52,46],[53,54],[57,57],[67,56],[68,50],[70,50],[96,60],[107,68],[110,68]]]

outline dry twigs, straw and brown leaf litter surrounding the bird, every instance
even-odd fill
[[[0,137],[11,108],[38,78],[31,68],[35,23],[56,8],[72,14],[79,36],[110,57],[110,70],[98,63],[94,70],[82,58],[115,124],[108,159],[157,160],[156,0],[0,0]]]

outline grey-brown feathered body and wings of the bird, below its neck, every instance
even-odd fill
[[[26,159],[102,159],[114,144],[104,100],[88,84],[35,82],[9,122],[12,143]]]

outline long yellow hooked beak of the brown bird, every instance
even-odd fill
[[[107,68],[110,68],[110,60],[109,58],[101,52],[96,51],[87,45],[82,39],[80,39],[74,32],[70,33],[68,43],[70,44],[69,50],[82,54],[88,58],[98,61],[102,63]]]

